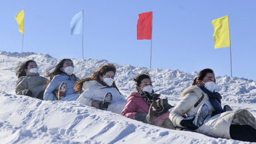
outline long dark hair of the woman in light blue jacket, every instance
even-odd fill
[[[53,72],[50,72],[51,70],[47,71],[47,77],[50,77],[50,81],[53,80],[54,76],[57,76],[59,74],[65,74],[63,71],[61,71],[61,68],[63,68],[63,64],[66,60],[70,60],[69,58],[64,58],[63,60],[61,60],[61,62],[59,62],[55,67],[51,68],[51,70],[53,70]],[[72,62],[72,60],[70,60]],[[76,76],[74,74],[72,74],[71,76],[74,76],[74,80],[76,81]]]

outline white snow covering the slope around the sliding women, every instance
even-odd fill
[[[249,143],[233,139],[215,139],[200,133],[164,129],[128,119],[110,111],[91,108],[76,102],[49,102],[15,94],[15,67],[33,59],[41,76],[61,59],[34,52],[0,51],[0,141],[1,143]],[[74,59],[74,74],[91,76],[107,60]],[[129,96],[135,90],[132,78],[144,68],[116,64],[115,81]],[[180,93],[190,86],[197,71],[149,70],[154,90],[176,105]],[[256,115],[256,82],[245,78],[217,76],[216,90],[223,96],[223,105],[249,109]],[[172,110],[172,109],[170,109]]]

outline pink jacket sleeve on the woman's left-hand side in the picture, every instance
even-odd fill
[[[130,119],[134,119],[134,116],[137,114],[136,109],[137,109],[136,98],[135,96],[130,96],[121,114]]]

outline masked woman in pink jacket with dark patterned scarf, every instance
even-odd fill
[[[158,125],[168,129],[176,129],[169,119],[168,109],[172,108],[167,99],[160,99],[160,94],[155,94],[148,71],[144,70],[134,78],[137,92],[127,99],[127,104],[122,115],[144,123]]]

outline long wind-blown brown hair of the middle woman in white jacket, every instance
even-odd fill
[[[114,64],[105,64],[104,66],[100,67],[100,69],[97,70],[96,72],[92,72],[91,77],[84,78],[76,82],[76,86],[74,86],[74,92],[82,92],[82,84],[86,81],[91,81],[91,80],[96,80],[98,83],[102,84],[103,86],[107,86],[105,82],[102,82],[102,80],[100,80],[100,76],[104,76],[106,72],[109,72],[109,71],[113,71],[114,75],[116,75],[116,66],[114,66]],[[118,90],[115,82],[113,82],[112,87]]]

